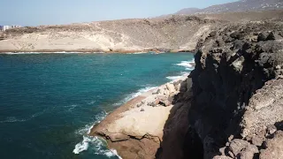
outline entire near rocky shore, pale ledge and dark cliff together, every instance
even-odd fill
[[[90,134],[126,159],[281,159],[282,68],[282,19],[214,27],[187,79],[128,102]]]

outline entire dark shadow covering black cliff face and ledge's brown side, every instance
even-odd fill
[[[225,55],[226,53],[224,53]],[[265,68],[244,50],[220,60],[202,52],[195,54],[195,70],[181,82],[164,125],[157,158],[213,158],[229,137],[241,138],[241,117],[249,99],[265,81],[274,78],[272,66]],[[191,79],[192,78],[192,79]],[[194,85],[193,85],[194,83]]]

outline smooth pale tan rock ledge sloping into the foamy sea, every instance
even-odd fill
[[[124,159],[156,158],[167,140],[164,134],[182,132],[182,140],[187,133],[187,104],[176,101],[180,92],[190,94],[189,87],[191,79],[185,76],[139,95],[95,125],[90,135],[107,140],[109,148],[117,149]]]

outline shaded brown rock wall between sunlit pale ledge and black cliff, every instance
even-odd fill
[[[188,124],[188,111],[192,105],[192,81],[175,82],[180,84],[180,93],[172,100],[172,110],[164,125],[164,136],[157,150],[156,158],[180,159],[203,158],[203,143]]]

